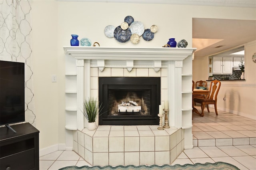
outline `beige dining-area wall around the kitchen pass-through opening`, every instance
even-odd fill
[[[256,41],[244,44],[244,49],[246,80],[221,81],[217,108],[222,111],[256,119],[256,63],[252,61],[252,55],[256,53]],[[204,65],[205,67],[200,67],[200,65]],[[208,56],[193,61],[194,81],[207,80],[207,71]],[[214,106],[212,105],[210,107]]]

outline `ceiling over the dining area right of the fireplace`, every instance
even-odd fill
[[[195,59],[256,40],[256,20],[193,18],[192,24]]]

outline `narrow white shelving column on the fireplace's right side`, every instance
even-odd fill
[[[183,60],[182,67],[182,128],[184,149],[193,148],[192,134],[192,55]]]

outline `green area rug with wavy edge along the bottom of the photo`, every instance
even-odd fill
[[[239,170],[236,166],[225,162],[215,163],[196,163],[196,164],[184,164],[184,165],[128,165],[128,166],[67,166],[60,168],[59,170]]]

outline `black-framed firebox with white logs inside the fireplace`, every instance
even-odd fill
[[[99,125],[159,125],[160,77],[99,77]]]

